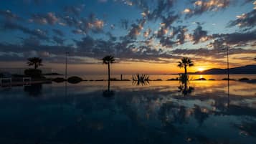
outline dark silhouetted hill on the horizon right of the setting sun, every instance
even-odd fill
[[[225,75],[227,69],[207,69],[203,72],[190,72],[191,75]],[[229,74],[256,74],[256,65],[234,67],[229,69]]]

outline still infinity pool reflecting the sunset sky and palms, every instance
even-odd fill
[[[1,87],[0,115],[2,144],[255,144],[256,84]]]

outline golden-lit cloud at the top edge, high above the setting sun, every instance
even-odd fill
[[[203,14],[207,11],[218,11],[220,9],[226,9],[230,5],[230,0],[198,0],[193,1],[194,8],[184,9],[184,13],[187,17]]]

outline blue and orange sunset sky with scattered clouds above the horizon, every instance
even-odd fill
[[[171,74],[255,64],[255,0],[1,0],[0,67],[41,57],[54,72]]]

